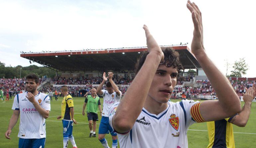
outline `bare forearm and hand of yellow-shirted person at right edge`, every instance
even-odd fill
[[[233,117],[230,121],[230,123],[233,123],[239,127],[244,127],[247,124],[251,113],[252,100],[255,98],[255,96],[253,95],[255,91],[252,87],[250,87],[248,90],[247,88],[245,89],[246,92],[245,94],[243,93],[244,106],[242,108],[242,111],[238,113],[238,115]]]

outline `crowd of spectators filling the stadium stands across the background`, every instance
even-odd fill
[[[45,80],[46,78],[40,78],[40,83],[42,83]],[[122,86],[119,85],[118,88],[123,95],[128,89],[127,85],[131,84],[132,82],[132,79],[129,79],[127,77],[117,76],[117,75],[113,78],[113,80],[116,84],[122,84]],[[177,85],[182,85],[185,81],[192,81],[192,80],[193,80],[193,76],[179,77],[177,79]],[[52,78],[51,81],[52,81],[51,82],[52,84],[61,84],[61,85],[76,85],[76,84],[91,85],[91,84],[100,84],[100,82],[102,81],[102,77],[84,77],[84,76],[80,76],[76,78],[55,77],[55,78]],[[197,95],[211,95],[211,96],[216,95],[209,80],[207,79],[201,80],[201,81],[197,80],[196,82],[201,83],[201,86],[197,88],[193,88],[189,86],[175,87],[172,97],[176,96],[176,94],[181,94],[183,92],[187,95],[188,98],[190,98],[192,95],[195,97]],[[251,80],[251,81],[231,80],[231,84],[234,87],[238,96],[242,96],[242,93],[245,92],[245,88],[251,87],[255,82],[256,80]],[[25,84],[26,84],[25,78],[21,78],[21,79],[20,78],[14,78],[14,79],[1,78],[0,79],[0,87],[3,88],[4,95],[6,95],[7,93],[9,94],[11,93],[14,96],[17,93],[20,93],[22,90],[23,91],[26,90]],[[79,90],[82,90],[82,89],[90,90],[91,88],[97,88],[97,87],[68,86],[69,92],[73,97],[82,97]],[[50,90],[52,90],[52,92],[54,91],[60,92],[60,89],[61,87],[53,87],[50,85],[50,86],[43,86],[40,91],[44,93],[49,93]],[[105,86],[103,87],[103,89],[106,89]]]

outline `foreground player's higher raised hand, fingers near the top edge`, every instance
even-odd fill
[[[193,39],[192,39],[192,43],[191,43],[191,51],[194,55],[198,55],[202,51],[204,51],[202,14],[194,2],[191,3],[191,1],[188,1],[187,8],[192,13],[192,20],[193,20],[193,24],[194,24]]]

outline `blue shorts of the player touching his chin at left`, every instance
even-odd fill
[[[44,148],[45,138],[41,139],[19,139],[19,148]]]

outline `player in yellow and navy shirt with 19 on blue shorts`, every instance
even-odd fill
[[[74,120],[73,98],[68,94],[68,87],[65,85],[61,87],[61,93],[64,98],[61,105],[61,116],[58,116],[57,119],[62,119],[63,123],[63,148],[67,148],[68,140],[72,143],[73,148],[77,148],[72,135],[73,123],[77,124]]]

